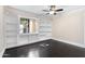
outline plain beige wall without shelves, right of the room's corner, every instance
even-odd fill
[[[53,39],[84,43],[84,9],[58,14],[53,21]]]

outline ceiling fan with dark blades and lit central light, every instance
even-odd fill
[[[56,5],[49,5],[48,10],[43,10],[44,12],[46,12],[46,15],[56,15],[57,12],[63,11],[63,9],[56,9]]]

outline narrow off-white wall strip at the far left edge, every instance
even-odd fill
[[[0,56],[2,56],[5,48],[3,35],[3,7],[0,5]]]

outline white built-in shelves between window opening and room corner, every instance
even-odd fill
[[[39,35],[42,37],[52,37],[52,24],[49,21],[41,20]]]

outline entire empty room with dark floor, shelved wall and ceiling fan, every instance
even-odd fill
[[[0,5],[1,57],[85,57],[85,5]]]

